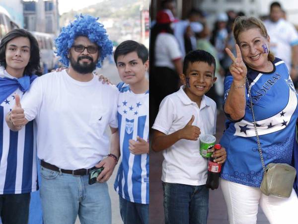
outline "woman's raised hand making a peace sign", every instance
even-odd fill
[[[241,51],[238,44],[235,44],[235,46],[236,46],[236,54],[237,54],[236,58],[228,48],[225,48],[225,52],[233,61],[233,63],[229,67],[229,71],[232,74],[234,81],[242,82],[243,79],[245,79],[246,77],[247,68],[242,60]]]

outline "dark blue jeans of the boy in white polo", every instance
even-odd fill
[[[162,183],[165,224],[207,224],[209,189],[206,185]]]

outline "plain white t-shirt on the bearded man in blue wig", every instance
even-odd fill
[[[117,88],[96,76],[79,82],[63,70],[37,78],[21,105],[27,120],[36,119],[38,157],[62,169],[93,167],[109,152],[117,102]]]

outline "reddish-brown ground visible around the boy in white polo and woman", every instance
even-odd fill
[[[224,119],[224,114],[221,112],[217,117],[217,142],[219,142],[223,134]],[[150,224],[164,224],[163,192],[160,180],[162,160],[162,152],[156,153],[150,151]],[[228,224],[227,208],[220,188],[214,191],[210,190],[208,224]],[[257,216],[257,224],[269,224],[260,208]]]

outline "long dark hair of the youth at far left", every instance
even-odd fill
[[[0,65],[6,68],[5,50],[7,43],[17,37],[26,37],[30,41],[30,60],[24,69],[23,75],[31,76],[36,71],[40,70],[40,56],[38,42],[35,37],[27,30],[13,29],[8,32],[1,40],[0,43]]]

